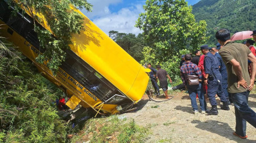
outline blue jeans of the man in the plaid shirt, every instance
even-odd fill
[[[205,111],[207,108],[207,103],[204,99],[204,91],[203,85],[199,83],[199,85],[187,85],[188,94],[191,99],[191,105],[193,107],[193,111],[198,110],[197,103],[196,103],[196,93],[199,97],[200,108],[202,111]]]

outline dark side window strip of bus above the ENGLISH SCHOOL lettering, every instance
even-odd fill
[[[115,90],[114,85],[70,50],[67,50],[66,60],[60,67],[102,101],[106,101]]]

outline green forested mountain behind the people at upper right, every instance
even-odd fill
[[[216,45],[215,33],[227,28],[234,34],[256,29],[255,0],[201,0],[193,5],[192,14],[196,21],[207,21],[208,45]]]

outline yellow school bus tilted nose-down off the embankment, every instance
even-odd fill
[[[148,84],[148,69],[144,68],[118,46],[108,35],[84,16],[84,29],[72,35],[72,45],[56,75],[46,62],[35,58],[44,52],[34,31],[29,13],[10,16],[12,8],[0,0],[0,36],[13,42],[39,72],[59,86],[70,97],[71,109],[77,105],[92,107],[100,114],[123,112],[140,101]],[[38,24],[49,31],[46,24]]]

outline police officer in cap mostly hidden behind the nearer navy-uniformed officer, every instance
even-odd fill
[[[222,91],[224,92],[226,98],[228,99],[228,103],[230,105],[229,93],[228,93],[228,72],[226,71],[226,65],[223,62],[220,54],[217,53],[217,51],[220,50],[221,45],[218,43],[216,46],[217,47],[212,47],[212,50],[213,50],[214,55],[216,55],[216,57],[218,58],[218,65],[220,67],[219,70],[220,70],[221,78],[222,78],[222,80],[221,80]]]

